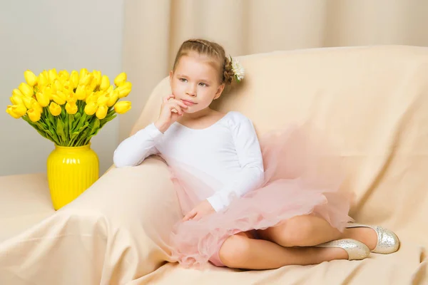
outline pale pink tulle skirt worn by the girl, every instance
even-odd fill
[[[201,268],[211,261],[223,266],[218,252],[228,237],[275,227],[304,214],[322,217],[340,231],[353,221],[348,215],[353,195],[340,191],[340,156],[323,144],[320,135],[292,127],[264,135],[260,147],[265,167],[262,187],[235,199],[221,212],[175,224],[170,246],[180,264]],[[164,158],[172,170],[183,214],[214,193],[215,177],[203,177],[198,170]]]

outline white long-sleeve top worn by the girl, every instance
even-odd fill
[[[223,186],[208,197],[217,212],[228,207],[233,198],[242,197],[263,182],[262,152],[253,123],[238,112],[229,112],[201,130],[175,122],[161,133],[152,123],[123,140],[114,152],[113,162],[116,167],[131,167],[157,154],[220,181]]]

